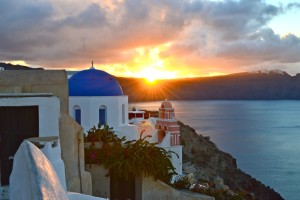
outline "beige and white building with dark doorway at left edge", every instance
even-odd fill
[[[64,166],[59,167],[57,174],[64,188],[92,193],[91,175],[83,167],[83,140],[78,140],[81,127],[69,116],[68,104],[65,71],[0,72],[0,199],[7,199],[14,155],[28,138],[43,145],[52,138],[47,152],[52,161],[62,163],[63,159]]]

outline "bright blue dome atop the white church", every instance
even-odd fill
[[[68,82],[69,96],[123,96],[118,81],[94,67],[77,72]]]

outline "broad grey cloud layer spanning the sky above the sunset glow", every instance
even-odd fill
[[[299,37],[267,27],[299,3],[263,0],[10,0],[0,6],[0,60],[47,67],[112,64],[132,59],[135,48],[172,43],[162,57],[178,63],[222,59],[243,65],[297,63]],[[29,62],[29,63],[30,63]],[[213,62],[211,62],[213,63]],[[225,65],[225,64],[224,64]],[[220,65],[223,67],[223,64]]]

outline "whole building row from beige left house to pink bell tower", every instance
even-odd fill
[[[128,96],[123,94],[117,80],[93,66],[69,79],[62,70],[2,70],[1,190],[9,184],[13,156],[21,141],[39,137],[36,143],[47,144],[50,141],[53,151],[61,148],[58,152],[61,151],[65,169],[61,170],[60,166],[57,174],[62,174],[63,178],[60,178],[64,187],[69,191],[91,194],[93,177],[85,171],[82,134],[98,124],[108,124],[119,136],[126,136],[128,140],[138,139],[144,130],[144,134],[152,136],[149,137],[151,142],[179,155],[179,158],[172,157],[172,163],[177,173],[182,174],[180,131],[171,102],[165,100],[161,103],[159,118],[144,120],[140,111],[130,112],[130,120],[128,116]],[[60,146],[53,145],[55,137]],[[47,151],[54,155],[51,148]],[[60,155],[57,157],[61,159]]]

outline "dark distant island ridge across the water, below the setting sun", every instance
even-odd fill
[[[215,77],[158,80],[117,78],[130,102],[171,100],[298,100],[300,74],[280,70],[244,72]]]

